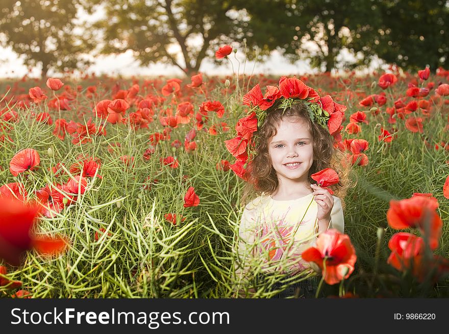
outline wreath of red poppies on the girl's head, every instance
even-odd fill
[[[257,155],[257,136],[254,133],[264,124],[269,112],[267,109],[275,106],[275,109],[285,112],[300,101],[306,106],[312,122],[327,129],[334,137],[334,147],[338,147],[346,106],[335,103],[330,95],[320,97],[313,88],[299,79],[282,76],[279,87],[266,86],[265,95],[257,84],[243,96],[243,105],[250,109],[247,116],[238,120],[235,126],[236,136],[224,141],[228,151],[237,159],[234,164],[229,165],[235,174],[248,181],[246,169]]]

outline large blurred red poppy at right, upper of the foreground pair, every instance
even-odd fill
[[[438,202],[425,196],[412,196],[402,200],[390,200],[387,221],[394,229],[418,228],[429,238],[431,249],[438,247],[443,222],[436,213]],[[429,234],[426,235],[426,230]]]

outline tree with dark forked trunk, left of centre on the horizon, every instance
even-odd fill
[[[106,18],[90,27],[106,41],[101,53],[131,49],[141,65],[170,63],[187,74],[197,72],[235,30],[231,4],[218,0],[86,0],[84,6],[88,13],[106,10]]]

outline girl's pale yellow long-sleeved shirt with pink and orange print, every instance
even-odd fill
[[[343,233],[341,201],[333,197],[329,228]],[[238,254],[244,271],[251,266],[250,258],[261,261],[266,272],[282,270],[295,274],[310,268],[301,254],[316,241],[317,212],[318,204],[312,193],[291,200],[276,200],[262,194],[248,203],[239,227]]]

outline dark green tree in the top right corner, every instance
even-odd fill
[[[417,70],[449,58],[449,1],[377,1],[382,22],[365,49],[389,63]]]

